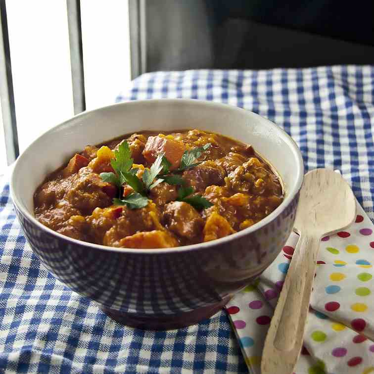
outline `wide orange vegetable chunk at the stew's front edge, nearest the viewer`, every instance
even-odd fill
[[[160,230],[140,232],[120,240],[120,246],[124,248],[170,248],[177,245],[173,236]]]

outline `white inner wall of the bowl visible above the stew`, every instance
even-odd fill
[[[286,191],[281,206],[286,205],[300,188],[303,178],[300,150],[272,122],[225,104],[161,99],[125,102],[84,112],[47,131],[18,158],[11,177],[13,199],[19,209],[33,215],[35,189],[48,173],[66,163],[74,152],[81,152],[87,144],[141,130],[194,128],[252,144],[281,175]]]

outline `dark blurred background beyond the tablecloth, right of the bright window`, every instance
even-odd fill
[[[133,77],[374,63],[373,1],[130,0]]]

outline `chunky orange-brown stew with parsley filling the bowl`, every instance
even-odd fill
[[[34,210],[43,225],[75,239],[167,248],[243,230],[282,200],[280,178],[252,146],[188,130],[86,146],[36,190]]]

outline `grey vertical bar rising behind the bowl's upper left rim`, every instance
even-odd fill
[[[78,114],[86,110],[85,77],[83,70],[81,1],[66,0],[66,6],[69,28],[74,114]]]

